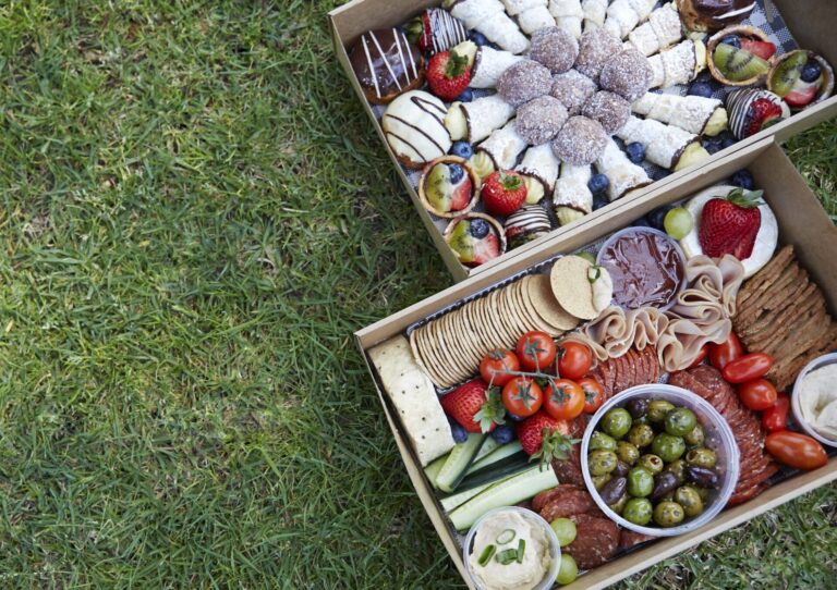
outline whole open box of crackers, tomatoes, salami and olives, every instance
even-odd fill
[[[356,332],[469,587],[604,588],[837,479],[835,253],[767,137]]]

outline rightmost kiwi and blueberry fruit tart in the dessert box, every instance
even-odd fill
[[[834,70],[813,51],[796,49],[773,64],[767,88],[785,99],[792,111],[801,111],[832,96]]]

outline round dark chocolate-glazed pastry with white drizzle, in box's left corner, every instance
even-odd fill
[[[366,99],[386,105],[424,82],[424,58],[397,28],[368,30],[352,46],[349,61]]]

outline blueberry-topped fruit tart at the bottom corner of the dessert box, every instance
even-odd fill
[[[484,265],[506,251],[502,225],[485,213],[458,217],[445,230],[445,239],[459,261],[469,267]]]

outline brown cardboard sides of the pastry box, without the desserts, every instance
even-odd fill
[[[642,199],[644,195],[650,194],[656,188],[663,187],[669,183],[678,182],[690,174],[690,170],[674,173],[665,179],[657,181],[648,187],[638,190],[626,199],[621,199],[608,207],[594,211],[590,216],[585,216],[581,220],[554,230],[547,236],[544,236],[535,242],[526,244],[524,246],[514,248],[506,253],[502,257],[493,260],[488,263],[476,267],[475,269],[469,269],[463,267],[457,259],[453,251],[445,243],[441,232],[434,224],[434,219],[422,206],[418,200],[418,195],[412,187],[410,181],[407,177],[401,165],[395,158],[392,150],[389,149],[384,133],[378,124],[375,114],[372,111],[369,103],[366,101],[363,90],[357,83],[357,79],[349,63],[348,48],[357,39],[357,37],[372,28],[396,26],[407,22],[410,17],[418,14],[424,9],[438,5],[439,0],[353,0],[329,13],[329,21],[331,24],[331,30],[333,35],[335,51],[337,53],[338,61],[345,71],[352,87],[357,93],[357,97],[363,103],[366,112],[369,115],[373,126],[378,132],[381,144],[390,156],[399,175],[407,188],[410,198],[413,201],[418,216],[427,228],[442,260],[453,274],[456,281],[461,281],[469,275],[475,275],[486,272],[505,260],[517,256],[525,256],[531,251],[553,238],[558,236],[567,236],[578,230],[581,225],[587,223],[594,223],[603,216],[607,216],[612,209],[626,205],[628,202],[636,202],[638,199]],[[766,0],[767,14],[769,16],[771,7],[775,7],[781,14],[788,28],[793,34],[793,37],[799,42],[800,47],[811,49],[821,53],[830,63],[837,66],[837,37],[833,34],[837,28],[837,2],[834,0],[806,0],[804,7],[793,0]],[[779,142],[785,142],[789,137],[805,131],[826,119],[829,119],[837,114],[837,96],[823,101],[822,103],[806,109],[805,111],[798,113],[790,119],[774,125],[767,130],[760,132],[759,134],[743,140],[736,145],[717,152],[706,163],[716,162],[719,159],[740,150],[747,146],[752,146],[765,137],[773,136]],[[705,164],[704,164],[705,165]]]

